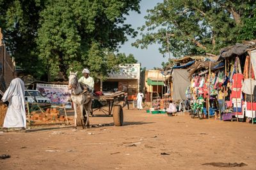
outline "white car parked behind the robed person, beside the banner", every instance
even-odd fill
[[[38,90],[25,90],[25,102],[51,104],[51,99],[42,95]]]

